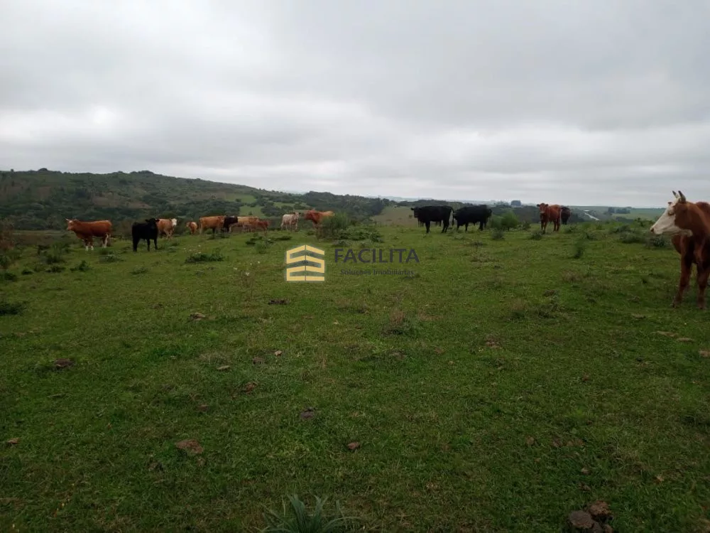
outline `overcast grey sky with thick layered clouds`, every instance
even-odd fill
[[[3,0],[0,168],[710,200],[703,0]]]

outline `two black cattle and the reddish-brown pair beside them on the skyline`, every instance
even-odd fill
[[[537,208],[540,210],[540,228],[545,233],[547,230],[547,222],[552,222],[553,230],[559,231],[559,224],[566,225],[572,211],[563,205],[539,203]],[[425,205],[419,208],[412,208],[414,217],[419,221],[419,225],[427,227],[427,233],[432,222],[443,224],[442,233],[449,229],[449,220],[451,225],[456,221],[456,230],[464,226],[465,230],[469,230],[469,224],[478,224],[479,230],[483,230],[488,223],[488,219],[493,215],[493,210],[488,205],[466,205],[454,211],[450,205]]]

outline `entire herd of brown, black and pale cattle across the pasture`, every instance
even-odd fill
[[[698,299],[697,306],[705,308],[705,290],[710,274],[710,204],[706,202],[689,202],[682,192],[673,191],[674,200],[668,202],[665,212],[658,218],[650,228],[653,235],[671,235],[672,243],[676,251],[680,254],[680,281],[677,294],[673,298],[672,305],[678,306],[682,301],[684,291],[687,289],[693,265],[697,267]],[[548,222],[552,222],[553,232],[559,231],[560,222],[567,224],[570,210],[562,205],[549,205],[547,203],[537,204],[540,212],[540,227],[545,232]],[[442,233],[449,228],[449,219],[453,225],[456,221],[456,229],[464,226],[469,230],[469,224],[479,224],[479,230],[483,230],[488,219],[493,215],[491,208],[487,205],[469,205],[457,210],[449,205],[425,205],[412,208],[414,217],[420,225],[427,227],[429,233],[432,222],[444,225]],[[332,211],[309,210],[305,213],[305,220],[312,220],[317,227],[325,217],[332,216]],[[298,212],[287,213],[281,217],[281,229],[298,230]],[[93,237],[102,239],[102,246],[106,247],[111,235],[110,220],[94,220],[83,222],[77,219],[66,219],[67,230],[73,231],[84,241],[88,250],[94,249]],[[148,250],[151,249],[151,239],[155,248],[158,247],[158,235],[165,235],[170,239],[173,237],[178,220],[175,218],[148,218],[145,222],[135,222],[131,227],[133,237],[133,252],[138,249],[141,239],[148,242]],[[268,220],[259,220],[258,217],[228,217],[225,215],[200,217],[200,224],[188,221],[185,224],[193,235],[198,230],[229,231],[234,227],[241,230],[253,231],[268,230]]]

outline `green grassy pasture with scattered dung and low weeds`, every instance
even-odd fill
[[[254,531],[295,492],[365,531],[555,532],[604,500],[619,532],[706,532],[707,316],[694,277],[670,308],[672,248],[613,227],[338,243],[415,249],[411,276],[342,274],[372,265],[306,231],[26,247],[0,281],[0,529]],[[300,244],[324,283],[284,280]]]

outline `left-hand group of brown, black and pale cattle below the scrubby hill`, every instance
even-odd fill
[[[311,220],[317,227],[325,217],[334,215],[332,211],[316,211],[308,210],[305,212],[304,220]],[[281,229],[298,230],[298,219],[300,214],[297,211],[286,213],[281,217]],[[102,240],[102,247],[109,245],[109,238],[113,230],[113,225],[110,220],[77,220],[65,219],[67,221],[67,231],[72,231],[77,237],[82,239],[84,247],[89,250],[94,249],[94,237],[99,237]],[[188,220],[185,222],[185,227],[190,230],[192,235],[198,231],[200,234],[204,230],[212,230],[212,234],[217,230],[230,232],[236,227],[241,231],[262,230],[264,233],[268,230],[268,220],[261,220],[259,217],[229,217],[226,215],[214,215],[210,217],[200,217],[199,225],[197,222]],[[173,238],[175,227],[178,227],[177,218],[146,218],[145,222],[133,222],[131,226],[131,237],[133,237],[133,252],[138,251],[138,243],[145,240],[148,244],[148,251],[151,249],[151,240],[155,249],[158,248],[158,237],[165,235],[168,240]]]

